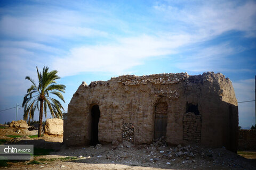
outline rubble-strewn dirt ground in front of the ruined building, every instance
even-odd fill
[[[0,169],[256,169],[255,157],[246,159],[225,148],[211,149],[196,145],[160,147],[153,144],[134,146],[127,142],[95,147],[66,147],[62,145],[62,137],[58,136],[16,139],[6,137],[19,135],[15,131],[17,129],[14,128],[0,129],[0,139],[10,139],[11,143],[16,144],[33,144],[39,148],[52,148],[55,151],[50,155],[35,156],[34,160],[37,162],[11,162]],[[37,134],[37,131],[20,131],[21,135]],[[255,154],[253,151],[252,153]]]

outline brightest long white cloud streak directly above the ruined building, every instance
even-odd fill
[[[55,58],[52,67],[59,71],[61,77],[81,72],[122,74],[125,70],[142,64],[149,57],[177,53],[175,48],[187,43],[189,37],[182,35],[122,38],[117,43],[73,48],[69,55]]]

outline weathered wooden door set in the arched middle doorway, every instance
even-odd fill
[[[166,137],[167,127],[167,104],[158,103],[155,107],[155,134],[154,139]]]

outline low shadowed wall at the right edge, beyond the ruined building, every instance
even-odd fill
[[[256,130],[239,130],[238,149],[256,150]]]

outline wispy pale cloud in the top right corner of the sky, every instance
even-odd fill
[[[159,15],[175,23],[174,28],[194,33],[198,40],[209,39],[230,30],[247,31],[255,35],[256,4],[247,1],[239,6],[236,2],[202,2],[184,8],[166,4],[154,6]]]

